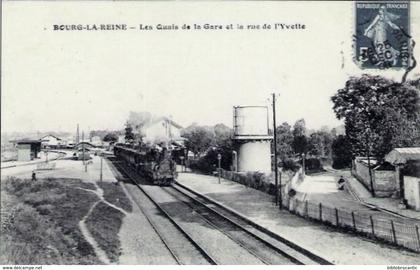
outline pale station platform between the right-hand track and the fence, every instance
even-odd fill
[[[334,264],[420,264],[418,254],[340,232],[279,210],[272,196],[236,182],[179,173],[178,182]]]

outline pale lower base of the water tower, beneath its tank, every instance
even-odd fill
[[[239,146],[238,171],[271,171],[271,148],[269,140],[247,141]]]

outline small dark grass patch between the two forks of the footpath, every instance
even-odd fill
[[[100,202],[86,220],[88,230],[99,247],[107,254],[111,262],[118,262],[120,256],[120,240],[118,232],[124,214],[109,205]]]

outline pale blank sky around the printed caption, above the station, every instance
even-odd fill
[[[411,34],[420,35],[420,3]],[[417,22],[417,23],[415,23]],[[54,24],[304,24],[304,30],[53,31]],[[3,2],[1,128],[121,129],[129,111],[188,126],[232,126],[235,105],[269,105],[277,121],[334,127],[330,97],[353,62],[354,3]],[[420,59],[417,46],[415,56]],[[419,67],[410,77],[420,76]]]

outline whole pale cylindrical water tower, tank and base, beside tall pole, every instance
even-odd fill
[[[271,172],[271,140],[266,106],[233,107],[233,139],[238,152],[240,172]],[[235,163],[235,160],[234,160]]]

